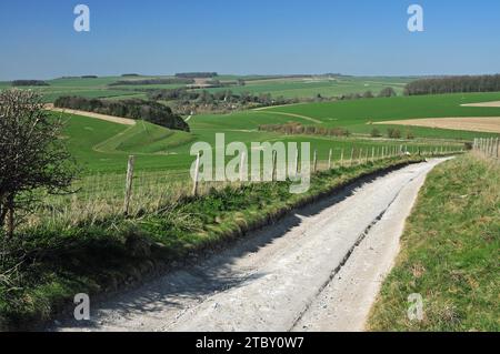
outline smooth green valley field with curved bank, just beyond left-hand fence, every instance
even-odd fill
[[[272,115],[271,115],[272,117]],[[224,133],[226,142],[241,141],[250,149],[251,142],[310,142],[311,150],[318,151],[318,159],[327,160],[329,150],[333,160],[339,160],[342,149],[346,158],[351,149],[409,145],[410,149],[430,149],[437,144],[461,146],[460,143],[437,140],[373,140],[369,138],[331,138],[309,135],[286,135],[258,131],[259,124],[269,122],[287,123],[289,119],[253,112],[240,112],[230,115],[203,115],[193,118],[191,133],[171,131],[147,122],[133,127],[101,121],[92,118],[66,114],[67,127],[63,133],[69,150],[83,168],[83,174],[124,172],[130,154],[137,155],[138,171],[179,172],[184,175],[194,156],[190,154],[194,141],[204,141],[214,145],[216,133]],[[294,121],[297,121],[294,119]],[[307,121],[303,121],[306,123]],[[228,158],[229,159],[229,158]]]

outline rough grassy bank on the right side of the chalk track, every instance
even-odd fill
[[[372,310],[372,331],[498,331],[500,164],[467,155],[432,171]],[[423,299],[409,321],[407,297]]]

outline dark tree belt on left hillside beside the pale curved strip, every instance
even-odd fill
[[[60,97],[54,107],[81,110],[136,120],[144,120],[164,128],[189,132],[189,125],[172,110],[161,103],[138,99],[122,101],[103,101],[82,97]]]

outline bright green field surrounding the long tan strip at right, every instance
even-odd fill
[[[500,108],[461,107],[463,103],[498,100],[500,100],[500,93],[498,92],[397,97],[390,99],[294,104],[268,108],[260,112],[261,114],[271,114],[269,117],[272,117],[273,112],[304,115],[320,120],[323,127],[342,127],[353,133],[369,134],[373,128],[384,129],[382,125],[373,127],[370,122],[419,118],[500,117]],[[294,120],[294,118],[290,117],[290,120]],[[386,128],[389,127],[393,125],[387,125]],[[471,133],[431,128],[399,127],[399,129],[402,131],[410,130],[416,136],[421,138],[471,140],[478,134],[481,135],[478,132]]]

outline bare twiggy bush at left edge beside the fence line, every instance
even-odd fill
[[[74,163],[62,140],[63,124],[43,110],[40,94],[0,92],[0,231],[12,237],[16,213],[29,211],[39,191],[68,193]]]

